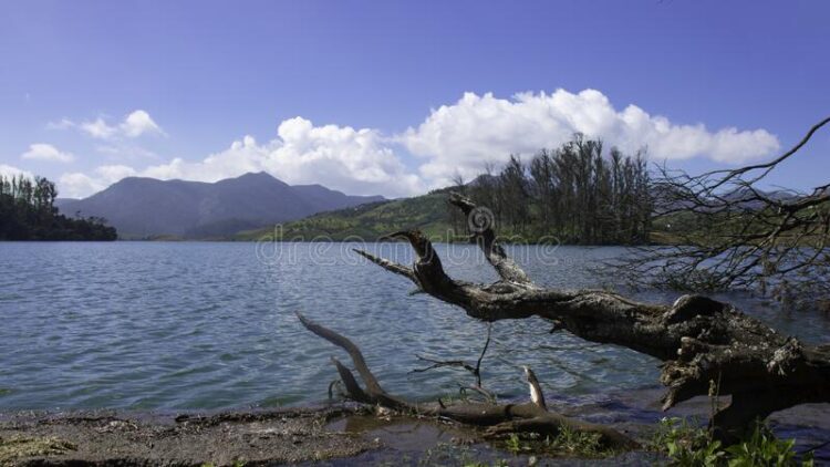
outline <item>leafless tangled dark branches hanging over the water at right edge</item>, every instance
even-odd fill
[[[766,190],[776,167],[822,126],[774,160],[692,176],[660,168],[654,226],[673,243],[633,251],[618,266],[635,282],[686,290],[757,289],[786,303],[828,308],[830,184],[810,193]]]

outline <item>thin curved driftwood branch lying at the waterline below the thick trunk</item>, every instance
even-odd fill
[[[536,404],[490,404],[490,403],[442,403],[417,404],[393,396],[383,390],[366,365],[360,349],[345,336],[307,319],[299,312],[300,322],[314,334],[340,346],[349,353],[357,374],[363,380],[361,387],[354,374],[339,360],[332,357],[349,398],[363,404],[380,405],[394,411],[415,415],[452,419],[468,425],[489,427],[485,434],[500,436],[508,433],[540,433],[556,436],[563,427],[574,432],[596,434],[603,447],[611,449],[633,449],[637,443],[620,432],[602,425],[577,421],[548,412]]]

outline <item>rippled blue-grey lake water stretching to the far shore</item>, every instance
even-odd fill
[[[342,351],[293,312],[354,340],[392,393],[434,401],[470,377],[416,355],[475,362],[487,326],[351,251],[355,243],[0,243],[0,409],[218,409],[317,404]],[[409,263],[404,243],[370,251]],[[447,271],[495,273],[473,246],[437,245]],[[591,266],[621,248],[512,247],[537,282],[604,283]],[[673,301],[646,291],[637,299]],[[747,294],[719,295],[785,333],[828,341],[817,313],[786,314]],[[484,382],[526,397],[518,365],[556,398],[591,401],[656,385],[657,361],[567,333],[539,319],[494,324]]]

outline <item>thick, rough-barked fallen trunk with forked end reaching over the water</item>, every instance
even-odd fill
[[[466,216],[481,209],[452,194],[449,201]],[[475,219],[471,218],[471,225]],[[382,268],[401,274],[424,292],[463,308],[484,321],[540,316],[553,329],[584,340],[616,344],[664,362],[661,382],[668,388],[663,408],[718,384],[732,405],[712,421],[724,438],[757,418],[805,403],[830,402],[830,345],[809,346],[750,318],[728,303],[684,295],[672,305],[641,303],[604,290],[559,290],[536,286],[496,241],[487,225],[471,240],[501,278],[489,284],[457,281],[446,274],[433,245],[418,230],[388,238],[405,239],[416,260],[406,267],[355,250]]]

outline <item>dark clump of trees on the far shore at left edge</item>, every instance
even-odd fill
[[[54,206],[58,190],[44,177],[0,175],[0,240],[115,240],[114,227],[96,217],[70,218]]]

